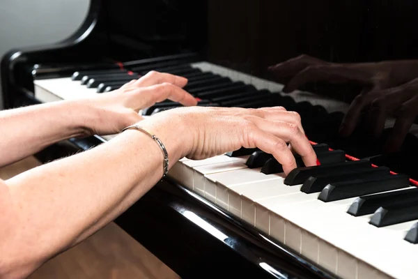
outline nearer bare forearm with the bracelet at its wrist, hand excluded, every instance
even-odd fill
[[[181,156],[181,134],[155,133],[169,149],[173,165]],[[150,137],[128,130],[95,149],[6,181],[13,213],[6,222],[10,229],[1,236],[0,254],[8,255],[10,268],[33,271],[144,195],[161,178],[162,160]]]

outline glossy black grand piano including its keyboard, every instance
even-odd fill
[[[385,145],[396,115],[379,137],[361,123],[341,137],[350,103],[373,77],[315,72],[318,63],[414,61],[417,10],[406,0],[91,0],[67,40],[3,56],[3,103],[106,93],[157,70],[187,77],[201,106],[296,111],[322,165],[300,163],[285,178],[257,149],[183,158],[116,224],[182,278],[417,278],[417,126],[396,151]],[[277,70],[286,61],[314,66],[291,92],[292,68]],[[402,72],[403,82],[418,75]],[[58,142],[36,156],[47,163],[111,137]]]

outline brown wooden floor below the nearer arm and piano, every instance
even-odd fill
[[[40,163],[33,157],[0,168],[9,179]],[[43,265],[29,279],[180,278],[120,227],[110,223],[99,232]]]

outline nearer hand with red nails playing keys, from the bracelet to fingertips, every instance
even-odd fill
[[[286,175],[297,167],[293,151],[302,156],[305,165],[317,165],[299,114],[283,107],[180,107],[155,114],[138,125],[152,130],[169,146],[177,141],[179,158],[201,160],[241,147],[258,147],[271,153]]]

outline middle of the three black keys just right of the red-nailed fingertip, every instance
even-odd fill
[[[343,174],[323,174],[318,176],[310,176],[306,181],[304,181],[300,190],[307,194],[319,193],[323,190],[323,188],[325,188],[325,186],[330,183],[350,181],[353,179],[371,179],[389,173],[390,169],[388,167],[372,167],[370,169],[354,170],[353,172],[346,172]]]

